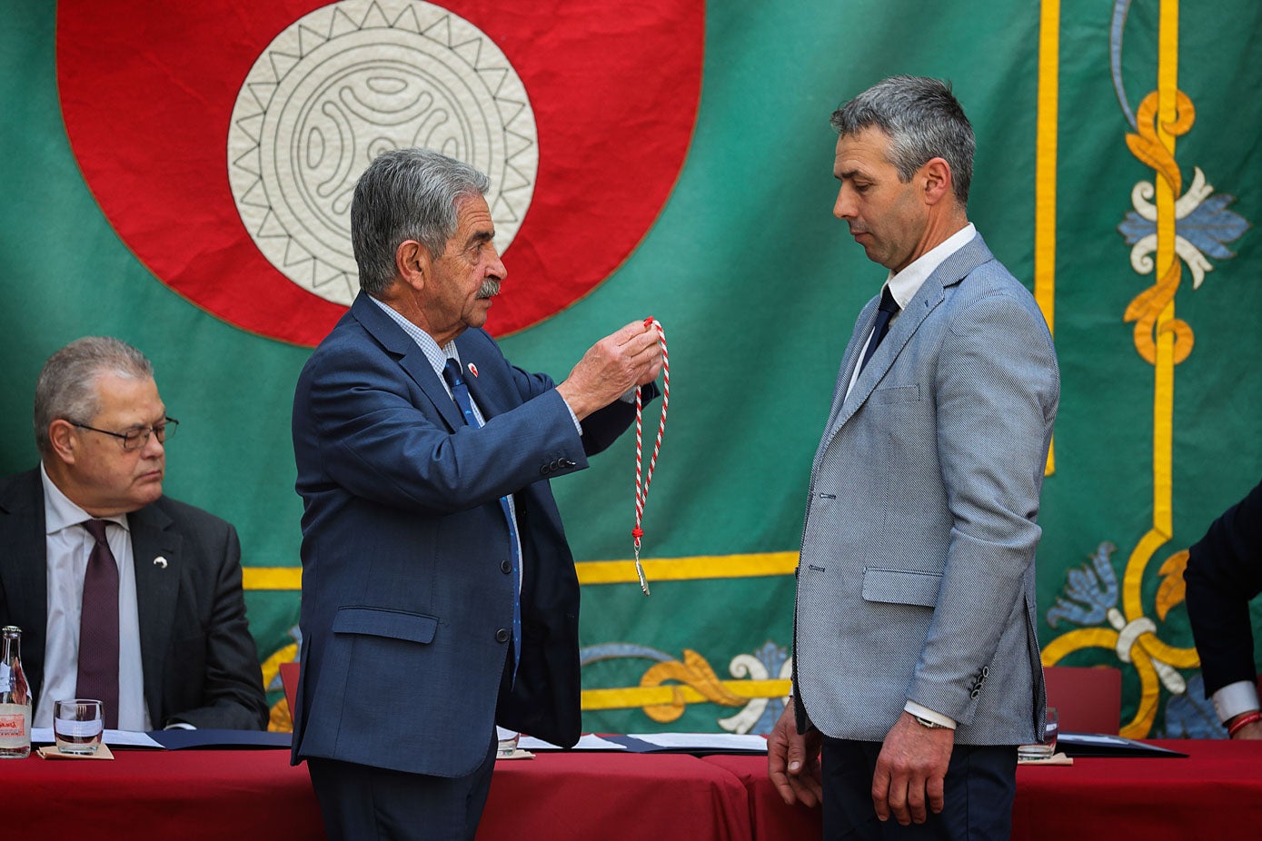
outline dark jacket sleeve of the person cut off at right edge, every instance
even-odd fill
[[[1256,682],[1249,599],[1262,593],[1262,482],[1189,550],[1184,581],[1205,697]]]

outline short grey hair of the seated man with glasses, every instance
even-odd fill
[[[107,373],[153,380],[154,367],[140,351],[107,335],[76,339],[48,357],[35,383],[35,446],[40,455],[53,451],[48,425],[54,420],[86,424],[101,411],[96,381]]]

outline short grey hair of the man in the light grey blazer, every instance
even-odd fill
[[[955,199],[968,204],[977,140],[950,82],[920,76],[891,76],[833,112],[837,134],[854,135],[876,126],[890,137],[890,163],[907,183],[921,166],[941,158],[950,166]]]

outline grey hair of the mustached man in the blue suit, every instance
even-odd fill
[[[395,252],[415,240],[442,256],[456,233],[456,204],[486,195],[491,179],[429,149],[395,149],[379,155],[360,175],[351,200],[351,245],[360,289],[380,298],[395,276]]]

